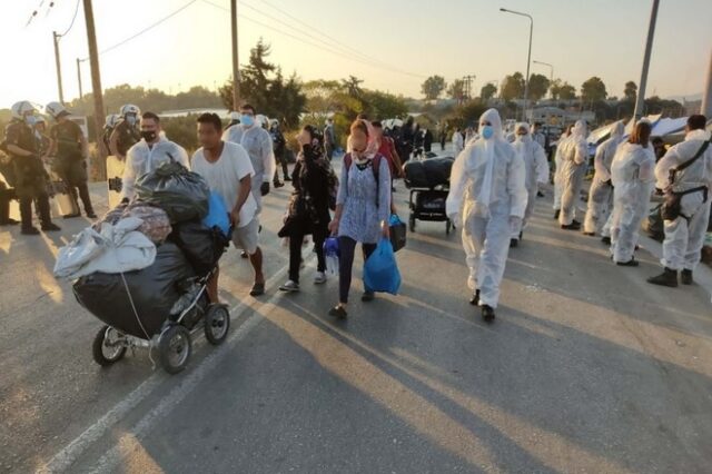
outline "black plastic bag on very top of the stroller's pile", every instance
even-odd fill
[[[176,161],[141,176],[136,194],[142,201],[164,209],[171,224],[202,219],[208,214],[210,189],[205,179]]]

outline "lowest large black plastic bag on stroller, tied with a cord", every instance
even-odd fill
[[[157,334],[176,300],[180,297],[178,283],[195,276],[180,249],[166,243],[158,247],[150,267],[123,274],[141,324],[149,337]],[[121,274],[96,273],[75,283],[75,296],[81,306],[106,324],[146,338],[134,314]]]

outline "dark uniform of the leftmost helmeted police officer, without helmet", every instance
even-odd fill
[[[42,227],[51,227],[46,171],[37,149],[34,131],[23,121],[13,120],[6,128],[6,140],[8,145],[14,145],[33,154],[23,157],[10,152],[14,168],[16,192],[20,200],[22,229],[32,228],[32,200],[37,201]]]

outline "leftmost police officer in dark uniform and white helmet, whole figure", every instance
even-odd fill
[[[44,180],[44,167],[38,152],[34,137],[34,107],[27,100],[12,106],[12,120],[6,128],[8,152],[16,174],[16,191],[20,200],[22,234],[38,235],[32,226],[32,200],[37,200],[40,224],[43,231],[60,230],[52,224],[49,214],[49,196]]]

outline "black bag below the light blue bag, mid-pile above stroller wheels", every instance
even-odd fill
[[[168,238],[182,250],[198,275],[210,271],[229,244],[219,228],[208,228],[195,220],[177,224]]]

